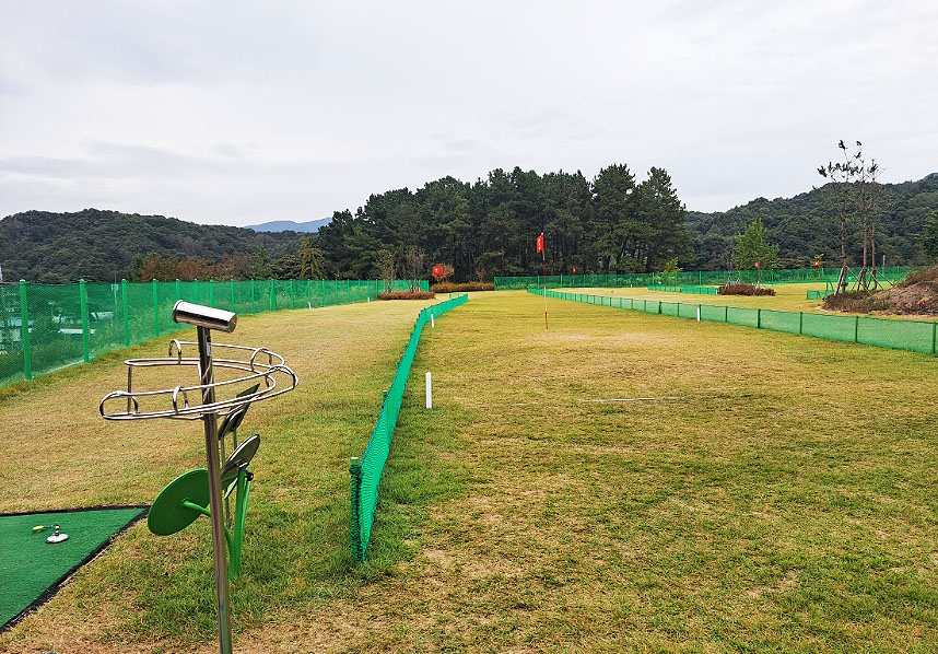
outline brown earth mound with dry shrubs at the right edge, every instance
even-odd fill
[[[913,272],[891,289],[868,293],[852,291],[824,299],[824,308],[852,313],[938,313],[938,265]]]

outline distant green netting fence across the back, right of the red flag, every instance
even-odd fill
[[[877,268],[877,275],[888,282],[899,282],[914,268],[908,266],[887,266]],[[766,270],[762,273],[763,284],[810,283],[837,281],[840,268],[795,268],[790,270]],[[647,272],[634,275],[549,275],[535,277],[496,277],[496,291],[524,291],[529,288],[543,288],[544,281],[550,288],[628,289],[635,287],[713,287],[725,284],[728,279],[739,279],[743,283],[760,281],[758,270],[699,270],[695,272]],[[856,281],[851,277],[848,281]]]

